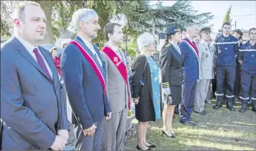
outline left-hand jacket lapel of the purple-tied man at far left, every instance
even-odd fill
[[[19,53],[21,53],[21,56],[24,56],[29,63],[31,63],[36,69],[38,69],[39,72],[41,72],[47,79],[49,79],[48,76],[44,73],[44,70],[41,68],[41,66],[39,66],[38,62],[34,60],[33,56],[28,53],[28,50],[26,50],[23,44],[15,37],[13,37],[13,40],[11,41],[15,45],[15,49],[18,50]],[[51,81],[51,79],[49,80]]]

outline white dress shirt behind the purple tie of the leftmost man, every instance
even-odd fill
[[[22,43],[22,45],[26,48],[26,50],[28,50],[28,53],[31,54],[31,56],[34,58],[34,60],[37,63],[38,63],[38,59],[37,59],[37,57],[35,56],[35,54],[33,52],[34,48],[38,49],[39,54],[44,59],[44,56],[42,55],[41,51],[39,50],[38,45],[36,47],[34,47],[33,45],[31,45],[31,43],[28,43],[26,40],[22,39],[21,37],[18,37],[17,35],[15,35],[15,37]],[[51,75],[51,79],[53,79],[51,68],[50,68],[50,66],[48,65],[48,63],[45,59],[44,59],[44,63],[45,63],[45,66],[48,69],[49,74]]]

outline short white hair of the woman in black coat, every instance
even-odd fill
[[[147,47],[150,44],[155,43],[155,38],[152,34],[145,32],[143,34],[140,34],[137,38],[137,44],[139,47],[139,50],[142,50],[143,47]]]

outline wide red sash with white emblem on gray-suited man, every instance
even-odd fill
[[[107,56],[110,58],[112,63],[117,67],[118,71],[120,74],[123,76],[124,81],[126,82],[126,87],[127,87],[127,93],[128,93],[128,108],[130,110],[130,93],[129,88],[128,88],[128,79],[127,79],[127,69],[122,60],[120,59],[119,56],[117,56],[117,53],[115,53],[113,50],[110,49],[110,47],[103,47],[100,51],[103,51],[104,53],[107,54]]]

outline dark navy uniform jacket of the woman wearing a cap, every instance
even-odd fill
[[[166,82],[169,86],[182,85],[184,83],[183,56],[176,50],[172,43],[162,48],[160,60],[163,88],[168,87],[164,86]]]

